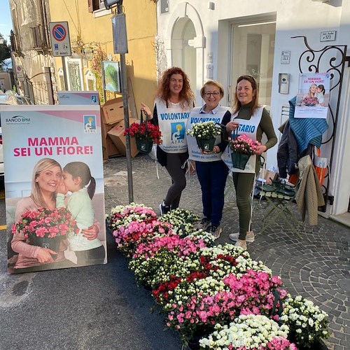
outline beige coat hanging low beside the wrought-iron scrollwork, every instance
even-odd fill
[[[305,221],[307,216],[309,225],[317,225],[318,207],[322,207],[325,204],[322,188],[309,155],[300,158],[297,165],[300,179],[300,185],[295,197],[297,209],[300,211],[302,221]]]

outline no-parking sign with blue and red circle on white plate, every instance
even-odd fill
[[[50,22],[50,38],[53,56],[71,56],[68,22]]]

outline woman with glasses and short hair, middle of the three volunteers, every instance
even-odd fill
[[[191,111],[186,130],[192,129],[194,123],[210,120],[221,125],[230,122],[230,111],[219,104],[224,95],[221,83],[215,80],[207,81],[200,90],[200,95],[204,99],[204,106],[196,107]],[[202,188],[203,218],[199,228],[211,232],[214,238],[218,239],[222,232],[220,222],[223,216],[224,190],[228,177],[228,167],[221,160],[226,144],[222,135],[216,137],[214,150],[211,152],[198,148],[195,137],[188,135],[187,143],[189,159],[195,160],[197,176]]]

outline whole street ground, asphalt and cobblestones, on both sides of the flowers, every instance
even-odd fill
[[[129,202],[125,158],[104,164],[106,213]],[[134,202],[159,213],[171,180],[164,168],[148,155],[132,159]],[[223,233],[218,243],[238,231],[234,190],[228,181],[223,211]],[[181,207],[201,214],[200,186],[194,174],[188,178]],[[255,242],[248,252],[279,274],[292,295],[314,301],[330,315],[329,349],[350,349],[349,238],[350,230],[318,216],[318,225],[302,228],[302,239],[275,223],[262,235],[266,201],[254,200]],[[296,211],[294,211],[297,214]],[[0,200],[0,257],[6,261],[5,205]],[[164,329],[162,314],[150,293],[137,288],[127,260],[108,235],[109,263],[92,267],[9,275],[0,265],[0,349],[140,349],[180,350],[179,335]]]

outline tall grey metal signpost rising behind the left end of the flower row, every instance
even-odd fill
[[[123,1],[118,4],[118,14],[123,13]],[[125,29],[126,30],[126,29]],[[124,106],[124,123],[125,129],[129,127],[129,105],[127,101],[127,66],[125,63],[125,53],[120,53],[120,75],[121,90],[123,95]],[[130,153],[130,135],[125,136],[126,157],[127,157],[127,186],[129,189],[129,202],[134,202],[134,189],[132,186],[132,160]]]

